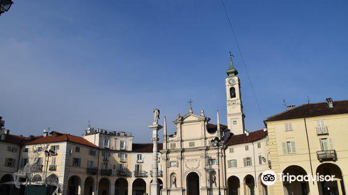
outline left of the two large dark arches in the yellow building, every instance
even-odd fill
[[[290,176],[306,176],[307,172],[301,167],[301,166],[288,166],[286,169],[284,169],[283,174],[284,176],[289,173]],[[303,194],[307,195],[309,194],[309,185],[308,182],[299,182],[299,181],[294,181],[294,182],[288,182],[288,181],[283,181],[283,189],[284,189],[284,194],[285,195],[290,195],[290,194]]]

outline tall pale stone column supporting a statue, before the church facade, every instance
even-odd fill
[[[150,194],[158,195],[159,194],[159,185],[158,185],[158,164],[157,164],[157,143],[158,143],[158,130],[161,130],[162,126],[159,124],[148,125],[150,130],[152,130],[152,183],[150,184]]]

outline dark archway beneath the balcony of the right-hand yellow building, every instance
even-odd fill
[[[335,176],[332,182],[318,182],[320,195],[345,194],[345,185],[339,166],[332,163],[320,164],[317,168],[317,173],[319,173],[319,176]]]

